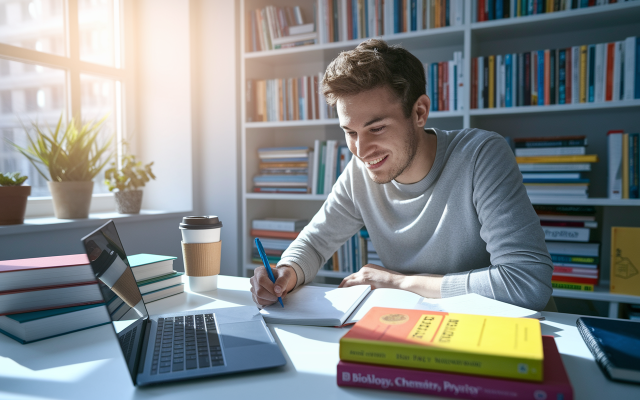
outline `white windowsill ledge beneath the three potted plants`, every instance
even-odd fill
[[[140,214],[118,214],[118,212],[95,212],[89,218],[79,220],[59,220],[55,217],[25,218],[20,225],[0,225],[0,236],[12,234],[29,234],[31,232],[47,232],[51,230],[97,227],[108,220],[118,221],[148,221],[164,218],[182,218],[191,211],[159,211],[141,210]]]

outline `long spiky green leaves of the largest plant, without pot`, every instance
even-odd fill
[[[72,119],[63,128],[60,115],[53,131],[48,125],[45,131],[37,122],[32,122],[35,138],[31,137],[29,129],[23,124],[28,146],[24,148],[11,141],[9,143],[27,157],[47,180],[93,180],[111,158],[109,146],[113,135],[104,143],[98,144],[100,128],[106,118],[107,116],[104,116],[98,122],[88,122],[79,128]],[[39,168],[43,165],[49,170],[49,177]]]

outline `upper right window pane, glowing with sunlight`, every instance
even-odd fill
[[[79,0],[80,60],[120,68],[118,46],[119,0]]]

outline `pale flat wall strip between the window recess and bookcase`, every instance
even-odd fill
[[[194,210],[222,221],[225,275],[241,275],[235,3],[191,0]]]

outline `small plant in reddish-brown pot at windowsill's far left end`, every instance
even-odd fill
[[[27,178],[19,172],[0,172],[0,225],[24,223],[27,198],[31,195],[31,186],[22,186]]]

